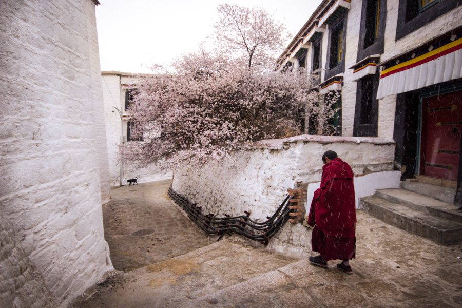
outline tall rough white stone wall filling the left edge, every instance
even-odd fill
[[[3,1],[0,211],[64,307],[112,269],[91,0]]]

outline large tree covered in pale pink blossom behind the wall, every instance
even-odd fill
[[[225,5],[220,9],[229,23],[243,18],[242,8]],[[256,30],[269,27],[271,18],[263,17],[252,17]],[[277,36],[269,32],[265,40]],[[143,141],[126,144],[125,159],[140,166],[200,168],[229,158],[232,151],[247,149],[255,141],[303,133],[303,110],[318,114],[319,123],[327,123],[323,106],[329,104],[319,104],[319,94],[312,91],[306,71],[265,69],[260,65],[269,57],[265,50],[275,46],[252,43],[258,40],[249,41],[247,36],[242,35],[249,44],[242,47],[247,54],[200,49],[172,62],[168,70],[158,66],[154,74],[141,78],[130,121],[136,122],[132,138],[143,134]]]

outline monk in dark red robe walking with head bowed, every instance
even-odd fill
[[[353,170],[334,151],[326,151],[322,161],[321,187],[314,193],[307,221],[314,227],[311,245],[319,255],[309,261],[325,268],[329,260],[343,260],[337,268],[352,274],[349,260],[355,258],[356,248]]]

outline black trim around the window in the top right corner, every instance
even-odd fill
[[[417,0],[399,0],[398,23],[396,26],[395,41],[398,41],[400,38],[403,38],[409,33],[414,32],[422,26],[425,26],[442,14],[445,14],[457,6],[462,5],[462,1],[460,0],[441,0],[440,3],[435,4],[425,12],[419,14],[417,17],[414,17],[412,20],[406,22],[406,10],[409,1]]]

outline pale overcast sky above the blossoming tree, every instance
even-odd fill
[[[264,7],[295,35],[321,0],[99,0],[96,7],[101,70],[149,73],[197,49],[213,32],[217,5]]]

